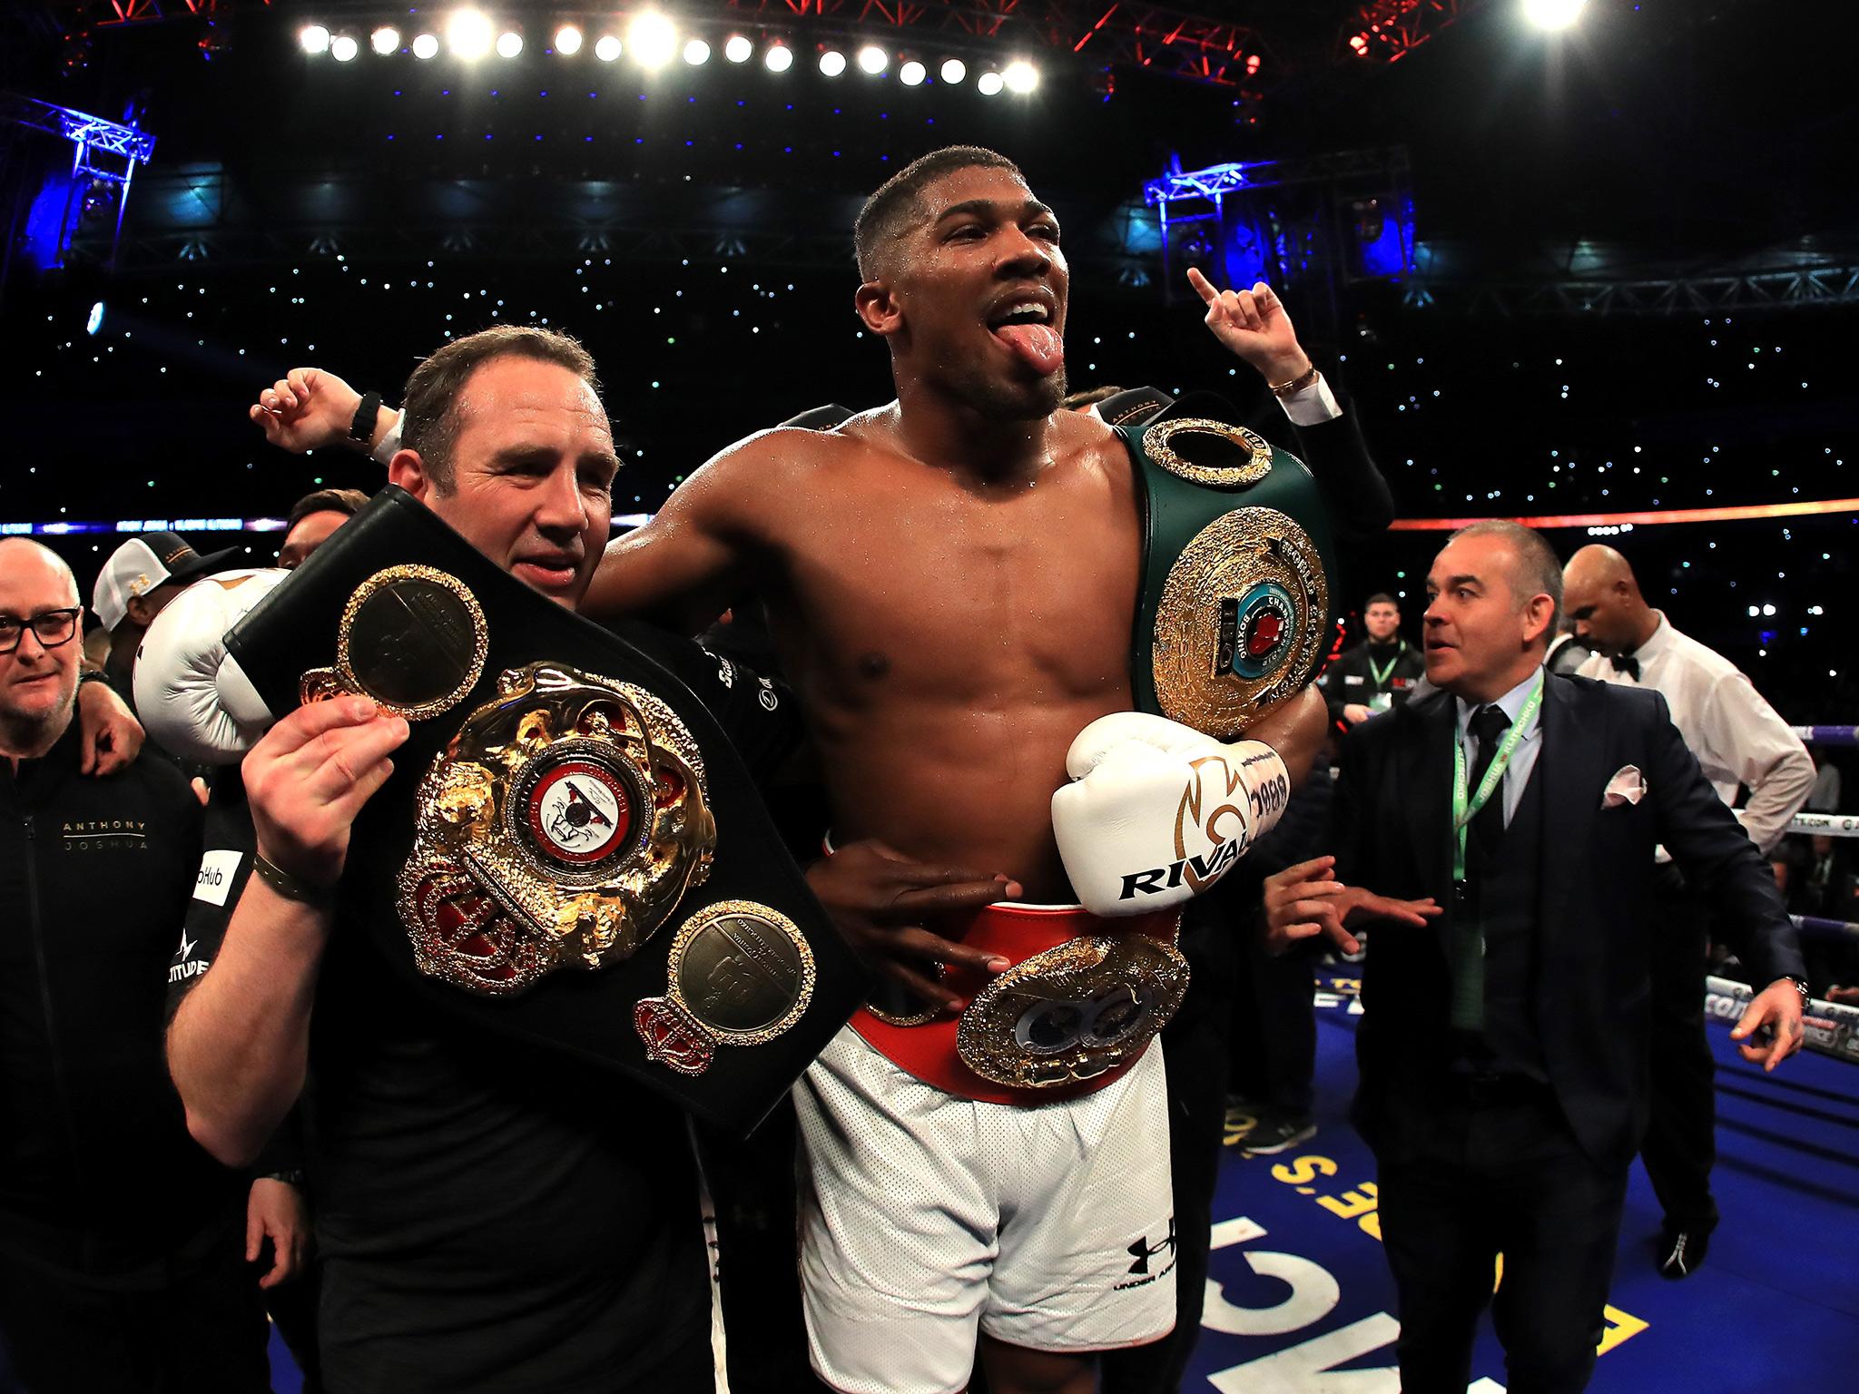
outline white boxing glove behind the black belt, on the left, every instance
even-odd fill
[[[136,651],[136,716],[182,760],[236,764],[275,717],[225,636],[288,571],[221,571],[177,595]]]

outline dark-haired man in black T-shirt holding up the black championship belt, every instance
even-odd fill
[[[409,381],[416,424],[392,478],[569,608],[600,558],[619,463],[591,379],[563,335],[454,340]],[[695,643],[651,639],[649,656],[701,695],[751,769],[798,742],[792,703],[770,684]],[[309,1188],[331,1388],[710,1388],[710,1271],[677,1108],[567,1054],[513,1048],[407,991],[363,926],[336,924],[322,888],[405,734],[361,699],[314,703],[247,756],[255,846],[219,851],[229,877],[249,879],[169,1030],[190,1124],[245,1160],[314,1072]],[[279,779],[290,758],[309,768]],[[316,857],[305,827],[323,838]]]

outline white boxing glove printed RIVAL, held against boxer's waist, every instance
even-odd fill
[[[1290,797],[1264,742],[1221,745],[1143,712],[1101,716],[1065,755],[1052,831],[1091,914],[1149,914],[1212,888]]]

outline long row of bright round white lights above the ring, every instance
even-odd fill
[[[554,52],[563,58],[573,58],[587,43],[587,35],[574,24],[558,28],[554,39]],[[338,63],[348,63],[361,54],[361,41],[353,33],[333,33],[323,24],[305,24],[297,32],[297,43],[303,46],[303,52],[310,56],[327,54]],[[381,58],[390,58],[403,52],[402,33],[392,24],[381,24],[368,35],[368,46]],[[467,63],[489,58],[493,52],[498,58],[517,58],[522,54],[522,33],[513,28],[498,32],[483,11],[459,9],[444,24],[442,46],[452,58]],[[437,58],[439,50],[441,39],[431,32],[415,33],[413,41],[405,46],[405,52],[422,61]],[[690,37],[680,45],[677,26],[653,11],[636,15],[626,24],[625,43],[621,43],[617,33],[600,33],[593,41],[593,56],[602,63],[617,61],[623,52],[630,54],[639,67],[649,71],[667,67],[679,56],[692,67],[710,61],[710,45],[705,39]],[[723,58],[731,63],[747,63],[755,58],[755,41],[742,33],[732,33],[723,43]],[[771,39],[762,48],[762,65],[770,72],[786,72],[794,67],[794,48],[783,39]],[[837,78],[853,65],[861,72],[877,78],[890,69],[890,54],[876,43],[863,45],[851,58],[838,48],[820,46],[818,67],[825,76]],[[918,58],[903,58],[898,63],[898,82],[905,87],[918,87],[928,76],[930,67]],[[944,58],[937,69],[937,76],[948,85],[956,85],[967,80],[969,65],[959,58]],[[974,85],[983,97],[995,97],[1000,91],[1026,95],[1039,85],[1039,69],[1024,58],[1015,58],[1000,71],[989,69],[982,72],[974,80]]]

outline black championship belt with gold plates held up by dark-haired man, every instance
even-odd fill
[[[732,1130],[866,980],[708,708],[383,489],[227,636],[273,712],[405,716],[338,888],[418,993]]]

